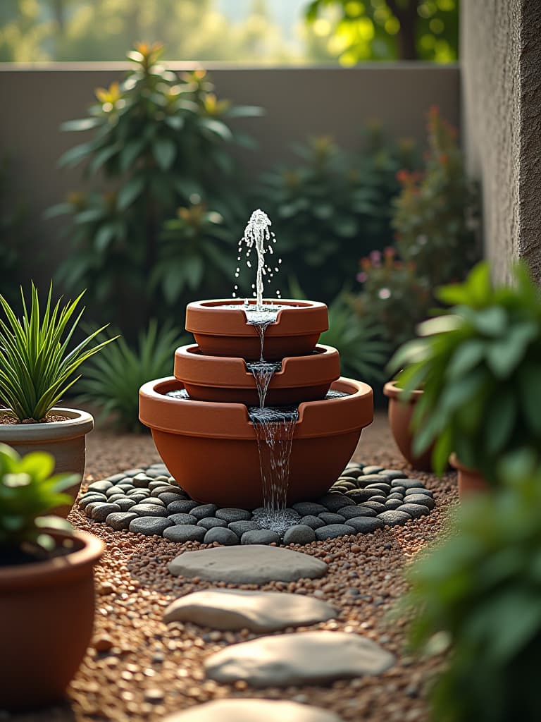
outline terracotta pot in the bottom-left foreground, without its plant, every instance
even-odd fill
[[[100,539],[78,531],[66,556],[0,567],[0,709],[34,708],[62,697],[92,637],[92,567],[104,549]]]

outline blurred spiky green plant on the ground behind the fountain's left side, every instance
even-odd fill
[[[154,320],[140,332],[136,349],[118,339],[85,367],[79,401],[99,405],[102,418],[110,417],[120,430],[143,430],[138,421],[139,388],[171,374],[172,358],[182,341],[175,329],[159,331]]]

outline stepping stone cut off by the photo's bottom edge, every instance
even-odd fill
[[[163,718],[163,722],[340,722],[333,712],[283,700],[219,700]]]

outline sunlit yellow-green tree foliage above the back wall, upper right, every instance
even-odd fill
[[[459,0],[312,0],[306,19],[342,65],[458,58]]]

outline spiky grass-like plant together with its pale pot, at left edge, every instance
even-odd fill
[[[97,329],[69,350],[83,310],[78,310],[82,294],[61,306],[52,303],[50,285],[43,315],[38,290],[32,283],[30,303],[22,296],[22,318],[0,295],[0,443],[7,443],[19,453],[48,451],[56,460],[57,472],[84,472],[85,435],[92,430],[94,419],[78,409],[56,406],[73,386],[77,370],[89,357],[113,339],[92,345],[103,329]],[[105,329],[105,326],[103,327]],[[79,483],[69,490],[75,499]],[[67,516],[67,505],[58,513]]]

